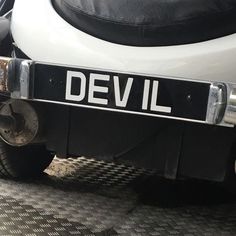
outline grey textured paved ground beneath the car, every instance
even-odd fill
[[[236,198],[210,183],[55,159],[37,180],[0,180],[0,235],[236,235]]]

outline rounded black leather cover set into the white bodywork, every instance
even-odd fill
[[[167,46],[236,32],[236,0],[52,0],[74,27],[124,45]]]

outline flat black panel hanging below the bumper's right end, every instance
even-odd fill
[[[224,181],[235,140],[234,128],[186,125],[179,176]]]

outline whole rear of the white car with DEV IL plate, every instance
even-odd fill
[[[0,6],[3,145],[129,162],[171,179],[234,173],[233,0]]]

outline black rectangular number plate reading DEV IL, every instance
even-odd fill
[[[210,83],[34,65],[34,99],[90,109],[205,121]]]

